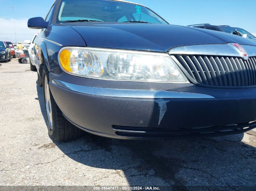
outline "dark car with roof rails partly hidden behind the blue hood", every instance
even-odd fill
[[[203,28],[203,29],[209,29],[209,30],[216,30],[224,33],[235,34],[240,37],[248,38],[251,40],[256,40],[256,37],[254,37],[251,33],[247,32],[246,30],[238,27],[231,27],[228,25],[217,26],[217,25],[211,25],[211,24],[194,24],[194,25],[188,25],[188,27],[197,27],[197,28]]]

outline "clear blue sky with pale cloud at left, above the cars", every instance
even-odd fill
[[[38,30],[28,29],[31,17],[45,18],[54,0],[0,0],[0,40],[15,41],[12,6],[15,13],[17,41],[30,40]],[[145,5],[170,24],[210,23],[240,27],[256,35],[256,0],[130,0]],[[3,27],[6,26],[6,27]]]

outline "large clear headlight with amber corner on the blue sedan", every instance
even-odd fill
[[[180,82],[188,80],[165,53],[66,47],[59,53],[70,74],[108,80]]]

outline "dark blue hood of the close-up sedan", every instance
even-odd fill
[[[65,23],[76,30],[89,47],[167,52],[177,46],[238,43],[256,46],[228,33],[170,24]]]

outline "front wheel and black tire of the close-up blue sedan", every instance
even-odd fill
[[[49,88],[48,69],[43,69],[43,91],[48,134],[58,142],[70,141],[82,134],[82,130],[71,124],[56,104]]]

